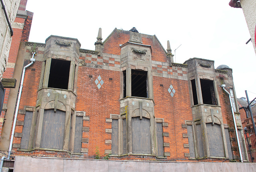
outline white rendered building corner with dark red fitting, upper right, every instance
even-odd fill
[[[244,17],[252,39],[252,45],[256,53],[256,1],[255,0],[230,0],[229,5],[234,8],[242,8]]]

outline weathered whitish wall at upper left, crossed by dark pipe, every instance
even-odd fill
[[[3,0],[5,10],[12,25],[18,12],[20,0]],[[3,72],[6,69],[6,63],[8,61],[10,46],[12,37],[7,20],[4,15],[4,10],[0,5],[0,78],[2,78]]]

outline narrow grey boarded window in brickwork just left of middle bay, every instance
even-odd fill
[[[112,154],[118,154],[118,119],[112,119],[111,140]]]

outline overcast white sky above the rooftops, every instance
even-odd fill
[[[28,0],[34,12],[30,42],[44,43],[50,35],[77,38],[81,48],[95,50],[98,28],[104,41],[114,30],[156,35],[164,48],[170,41],[176,63],[197,57],[233,69],[238,98],[256,97],[256,55],[244,14],[228,5],[230,0]]]

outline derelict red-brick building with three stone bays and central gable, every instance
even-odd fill
[[[23,45],[14,68],[26,68],[22,94],[6,112],[17,103],[6,152],[15,170],[256,169],[238,163],[249,161],[228,66],[174,63],[169,42],[166,51],[136,28],[104,42],[100,28],[95,51],[61,36]]]

